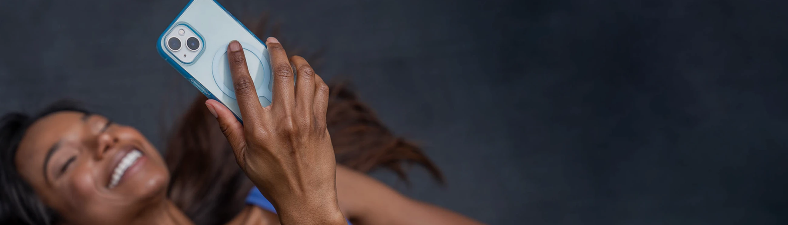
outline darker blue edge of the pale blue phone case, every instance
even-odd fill
[[[216,101],[219,101],[219,103],[221,103],[222,105],[225,105],[225,103],[221,102],[221,100],[216,98],[216,96],[214,96],[214,94],[211,94],[208,90],[206,90],[206,88],[203,86],[203,83],[199,83],[199,81],[197,81],[197,79],[195,79],[194,76],[191,76],[191,74],[189,72],[186,72],[184,67],[180,66],[177,62],[173,61],[172,58],[167,57],[167,53],[165,53],[164,49],[162,49],[162,41],[164,39],[164,35],[167,34],[167,31],[169,31],[170,28],[173,28],[173,24],[175,24],[175,22],[177,22],[178,18],[180,18],[180,15],[183,14],[184,11],[186,11],[186,9],[188,9],[189,6],[191,6],[191,2],[194,2],[194,1],[195,0],[190,0],[189,3],[187,3],[186,6],[184,6],[184,9],[180,9],[180,13],[178,13],[178,15],[175,16],[175,19],[173,19],[173,22],[170,22],[169,25],[167,26],[167,28],[165,28],[164,31],[162,31],[162,35],[158,36],[158,39],[156,41],[156,50],[158,51],[158,55],[159,56],[164,58],[164,60],[167,61],[167,63],[169,63],[169,65],[173,66],[173,68],[175,68],[175,70],[177,70],[180,73],[181,76],[184,76],[184,78],[186,78],[189,81],[189,83],[191,83],[191,85],[194,85],[195,87],[197,87],[197,89],[200,92],[202,92],[207,98],[214,99]],[[232,13],[227,11],[227,9],[225,9],[225,6],[221,6],[221,4],[219,4],[219,2],[217,2],[216,0],[213,0],[213,1],[214,1],[214,3],[216,3],[217,6],[219,6],[219,8],[225,10],[225,13],[227,13],[227,15],[230,15],[230,17],[232,17],[233,20],[236,20],[236,23],[240,24],[243,29],[247,30],[247,32],[249,32],[249,34],[252,37],[255,37],[255,39],[257,39],[258,42],[262,43],[262,46],[266,46],[266,42],[262,42],[262,40],[260,40],[260,38],[258,38],[258,36],[255,35],[255,33],[250,31],[249,28],[244,26],[243,23],[241,23],[241,21],[238,20],[238,18],[236,18],[236,16],[233,16]],[[266,46],[266,50],[267,49],[268,49],[268,46]],[[230,112],[232,112],[232,110],[230,110]],[[243,120],[241,119],[240,116],[236,115],[236,112],[232,112],[232,116],[236,116],[236,120],[240,121],[241,124],[243,124]]]

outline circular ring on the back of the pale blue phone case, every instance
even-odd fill
[[[240,42],[243,46],[243,54],[247,59],[247,67],[249,68],[249,76],[255,83],[255,90],[257,90],[258,100],[263,107],[271,104],[271,70],[268,66],[268,54],[257,50],[253,45],[247,42]],[[255,63],[256,62],[256,63]],[[221,92],[227,94],[230,98],[236,99],[236,90],[232,84],[232,76],[230,74],[229,61],[227,59],[227,45],[217,50],[214,55],[214,65],[212,66],[214,82],[221,89]],[[266,103],[267,102],[267,103]]]

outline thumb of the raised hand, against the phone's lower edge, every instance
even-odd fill
[[[238,122],[236,116],[233,116],[232,111],[227,109],[227,106],[219,103],[219,101],[208,99],[208,101],[205,101],[205,106],[211,114],[216,116],[219,128],[225,134],[227,141],[230,142],[232,151],[236,154],[236,159],[240,165],[243,161],[240,160],[240,157],[243,156],[243,151],[247,148],[246,138],[243,137],[243,125]]]

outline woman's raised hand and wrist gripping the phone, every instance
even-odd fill
[[[325,128],[329,88],[303,57],[288,61],[277,39],[267,39],[266,45],[273,103],[260,105],[243,48],[232,41],[227,56],[243,124],[217,101],[208,100],[206,106],[217,116],[238,165],[277,208],[281,223],[345,224],[336,201],[336,160]]]

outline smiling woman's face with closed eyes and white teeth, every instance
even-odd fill
[[[120,224],[165,200],[169,172],[133,127],[56,112],[28,128],[17,170],[44,204],[71,223]]]

